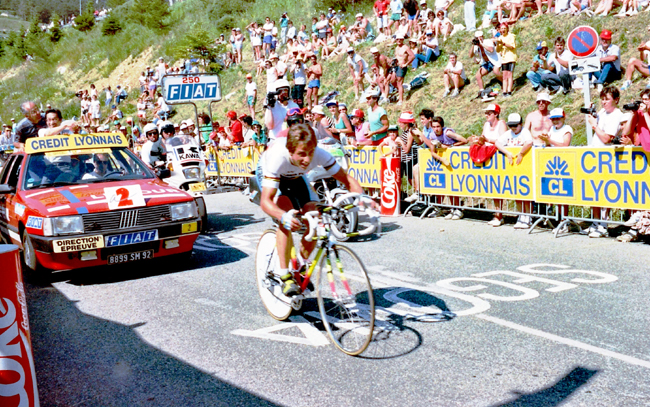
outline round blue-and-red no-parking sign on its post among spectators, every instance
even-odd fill
[[[569,72],[574,74],[582,73],[582,94],[584,95],[585,107],[591,107],[591,94],[589,93],[589,74],[600,71],[600,58],[591,57],[598,48],[600,37],[592,27],[582,25],[576,27],[569,33],[567,48],[576,57],[569,64]],[[585,120],[586,121],[586,120]],[[587,121],[587,143],[591,144],[593,129]]]

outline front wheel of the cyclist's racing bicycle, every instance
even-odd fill
[[[335,245],[320,261],[317,286],[318,309],[332,342],[348,355],[361,354],[372,340],[375,298],[359,256]]]

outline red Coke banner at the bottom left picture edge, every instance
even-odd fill
[[[18,246],[0,245],[0,406],[39,406]]]

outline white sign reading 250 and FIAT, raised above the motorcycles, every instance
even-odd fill
[[[169,104],[221,100],[221,81],[214,73],[165,75],[162,88]]]

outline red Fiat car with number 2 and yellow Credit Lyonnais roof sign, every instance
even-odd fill
[[[0,235],[32,270],[189,257],[200,210],[120,134],[31,138],[0,172]]]

